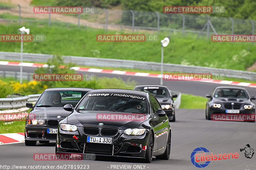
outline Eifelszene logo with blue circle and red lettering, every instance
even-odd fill
[[[201,153],[197,153],[201,152]],[[203,152],[203,153],[202,153]],[[198,147],[194,149],[190,155],[190,160],[192,164],[198,168],[204,168],[208,166],[211,160],[226,160],[226,159],[238,159],[239,153],[220,153],[220,154],[213,154],[212,152],[208,155],[206,153],[210,151],[203,147]]]

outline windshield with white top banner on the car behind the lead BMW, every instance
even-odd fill
[[[164,87],[137,87],[134,90],[139,90],[143,92],[150,92],[152,93],[155,97],[171,97],[170,93],[168,92],[167,88]]]

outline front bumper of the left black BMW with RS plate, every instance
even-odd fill
[[[25,126],[25,139],[26,140],[41,140],[41,141],[56,141],[57,134],[47,133],[47,129],[58,129],[58,127],[31,125]]]

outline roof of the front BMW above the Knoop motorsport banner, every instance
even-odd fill
[[[137,90],[128,90],[128,89],[97,89],[97,90],[92,90],[90,93],[95,93],[95,92],[108,92],[108,93],[116,92],[116,93],[127,93],[127,94],[135,94],[135,95],[142,95],[142,96],[147,96],[147,93],[148,93],[148,92],[141,92]]]

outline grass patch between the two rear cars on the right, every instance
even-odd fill
[[[179,108],[205,109],[207,98],[194,96],[192,94],[181,94],[181,104]]]

